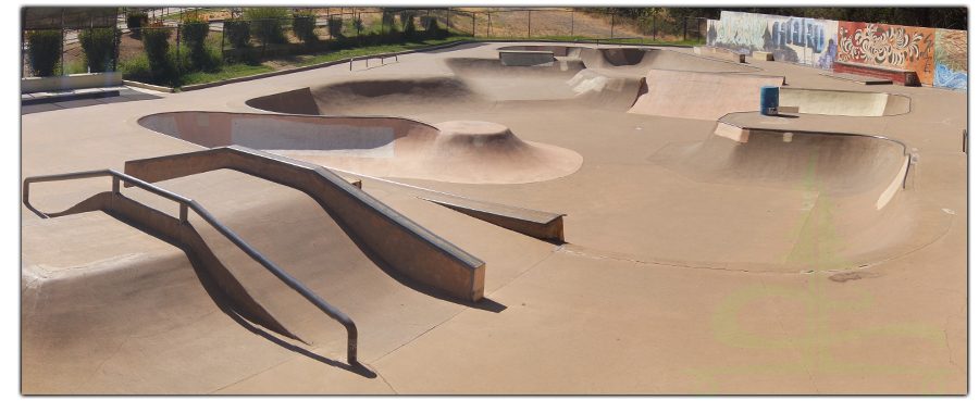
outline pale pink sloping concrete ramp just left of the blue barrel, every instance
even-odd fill
[[[714,121],[732,112],[758,111],[761,86],[782,86],[781,76],[652,70],[629,113]]]

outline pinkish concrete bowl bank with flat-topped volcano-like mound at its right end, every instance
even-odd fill
[[[206,148],[239,145],[377,177],[522,184],[570,175],[582,163],[574,151],[487,122],[171,112],[139,124]]]

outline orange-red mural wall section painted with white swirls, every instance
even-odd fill
[[[837,60],[915,71],[922,84],[934,78],[934,29],[839,22]]]

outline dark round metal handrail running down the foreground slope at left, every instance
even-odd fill
[[[342,311],[337,310],[335,306],[330,305],[325,300],[317,296],[315,292],[303,286],[299,280],[293,278],[293,276],[288,275],[285,271],[283,271],[278,265],[275,265],[271,260],[269,260],[261,252],[256,250],[253,247],[248,245],[241,237],[238,237],[237,234],[232,231],[228,227],[218,221],[214,215],[203,209],[197,201],[171,192],[166,189],[160,188],[156,185],[149,184],[141,179],[132,177],[129,175],[123,174],[121,172],[114,170],[98,170],[98,171],[87,171],[87,172],[75,172],[67,174],[57,174],[57,175],[44,175],[44,176],[32,176],[24,179],[24,204],[29,205],[29,188],[30,184],[35,183],[46,183],[46,182],[54,182],[54,180],[71,180],[71,179],[84,179],[84,178],[92,178],[100,176],[111,176],[112,177],[112,199],[115,199],[115,195],[119,192],[119,183],[120,180],[124,180],[133,186],[142,188],[144,190],[166,198],[171,201],[177,202],[181,205],[181,234],[183,234],[184,224],[187,223],[187,210],[194,210],[201,218],[211,224],[214,229],[224,235],[232,243],[241,249],[248,256],[251,256],[255,261],[269,270],[273,275],[278,277],[283,283],[289,286],[292,289],[299,292],[300,296],[306,298],[310,303],[315,305],[318,309],[326,313],[331,318],[335,320],[339,324],[342,324],[347,329],[347,362],[350,365],[357,362],[357,326],[354,324],[354,321],[350,320],[346,314]],[[111,204],[110,204],[111,205]],[[113,208],[113,206],[110,206]],[[183,237],[182,237],[183,238]],[[183,239],[181,239],[183,241]]]

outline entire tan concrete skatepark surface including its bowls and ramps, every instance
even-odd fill
[[[349,316],[358,345],[350,363],[344,326],[201,216],[181,227],[209,254],[114,210],[163,222],[177,203],[128,186],[110,202],[108,177],[36,183],[21,392],[965,395],[967,95],[820,73],[475,42],[25,112],[22,179],[160,159],[147,182]],[[758,113],[761,86],[780,115]],[[359,180],[343,190],[370,220],[414,235],[362,233],[265,171],[166,163],[228,146]],[[427,256],[416,238],[462,251],[472,299],[400,270]]]

